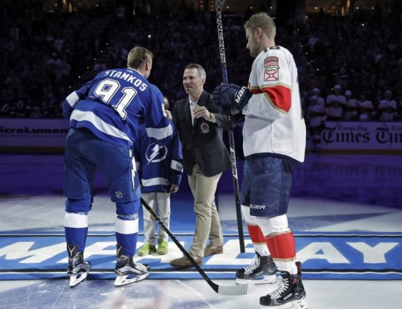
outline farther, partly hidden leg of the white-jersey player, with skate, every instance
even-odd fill
[[[252,240],[255,257],[252,263],[236,271],[236,283],[247,283],[250,280],[256,284],[273,283],[276,281],[276,266],[271,258],[264,235],[258,226],[256,217],[250,215],[250,179],[252,176],[252,159],[246,159],[243,181],[241,185],[241,210]]]

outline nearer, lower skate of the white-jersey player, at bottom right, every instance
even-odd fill
[[[297,275],[291,275],[287,271],[281,271],[282,280],[278,280],[278,288],[259,298],[262,306],[282,306],[285,303],[292,303],[292,308],[307,309],[306,291],[301,282],[301,264],[296,262]]]

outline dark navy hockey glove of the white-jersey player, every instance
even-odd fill
[[[243,110],[252,94],[247,87],[235,84],[220,84],[213,91],[213,101],[218,106],[234,107]]]

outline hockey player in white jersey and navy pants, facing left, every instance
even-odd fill
[[[287,222],[292,173],[304,161],[306,148],[296,64],[289,50],[275,45],[275,23],[266,13],[252,15],[244,28],[247,48],[255,57],[249,85],[221,84],[213,92],[217,105],[245,115],[241,203],[257,257],[236,277],[247,273],[253,280],[258,273],[272,274],[267,258],[271,253],[281,278],[277,289],[261,296],[259,303],[307,308],[301,264],[296,262],[294,236]]]

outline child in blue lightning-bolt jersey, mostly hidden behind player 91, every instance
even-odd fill
[[[165,110],[168,100],[165,99]],[[173,133],[172,141],[164,146],[153,142],[145,132],[143,125],[134,144],[137,172],[141,179],[141,196],[144,201],[159,213],[161,222],[169,228],[171,220],[171,194],[178,192],[182,178],[182,145],[178,133]],[[166,254],[168,252],[168,234],[158,229],[155,247],[155,219],[143,208],[144,244],[137,251],[138,256],[147,254]]]

